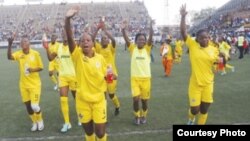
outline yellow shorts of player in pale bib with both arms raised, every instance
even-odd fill
[[[132,96],[140,96],[141,99],[149,99],[151,95],[151,78],[131,78]]]

